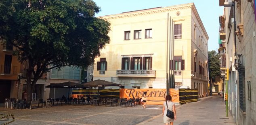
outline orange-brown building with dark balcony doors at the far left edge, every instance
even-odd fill
[[[18,96],[20,63],[13,56],[14,49],[8,43],[0,44],[0,104],[4,103],[5,98]]]

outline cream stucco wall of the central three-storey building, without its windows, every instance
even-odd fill
[[[179,16],[176,15],[178,11],[180,12]],[[194,29],[194,26],[191,25],[192,18],[198,26],[199,33],[197,34],[203,34],[204,36],[205,48],[208,48],[206,43],[208,43],[209,39],[200,17],[194,11],[196,11],[195,6],[191,3],[100,17],[111,23],[111,31],[109,33],[111,41],[101,51],[101,56],[95,59],[94,80],[101,79],[116,82],[125,85],[125,87],[140,84],[141,88],[165,88],[167,15],[169,13],[174,24],[182,24],[182,39],[174,40],[174,55],[181,55],[182,59],[185,60],[185,70],[182,71],[182,75],[175,76],[175,80],[191,88],[191,69],[193,70],[194,67],[194,63],[191,63],[194,60],[191,60],[191,57],[193,59],[193,50],[196,47],[196,44],[191,44],[193,42],[191,34],[193,34],[192,29]],[[194,16],[192,16],[192,13]],[[152,29],[151,39],[145,39],[145,29]],[[134,39],[134,30],[142,31],[142,39]],[[124,40],[124,31],[130,31],[130,40]],[[201,44],[203,45],[203,43]],[[197,55],[203,61],[208,60],[206,51],[207,49],[204,49],[204,52],[199,52]],[[116,75],[116,70],[121,70],[122,55],[135,54],[152,54],[152,70],[156,70],[155,78],[134,78],[132,76],[120,78]],[[104,75],[99,74],[99,71],[97,71],[97,61],[100,61],[100,58],[106,58],[107,61],[107,70]],[[204,80],[204,82],[206,81]]]

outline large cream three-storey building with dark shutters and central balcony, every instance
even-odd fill
[[[206,96],[209,37],[193,3],[99,17],[111,23],[111,41],[95,59],[93,79],[123,88],[166,88],[168,14],[174,22],[175,85]]]

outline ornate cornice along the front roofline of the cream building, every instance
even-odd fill
[[[165,7],[165,8],[156,8],[153,10],[139,10],[136,12],[127,12],[127,13],[122,13],[122,14],[115,14],[115,15],[110,15],[110,16],[100,16],[99,18],[103,18],[105,20],[110,20],[110,19],[115,19],[115,18],[126,18],[126,17],[131,17],[131,16],[140,16],[140,15],[145,15],[145,14],[153,14],[153,13],[159,13],[159,12],[166,12],[166,11],[171,11],[171,10],[181,10],[181,9],[186,9],[186,8],[192,8],[193,4],[188,4],[188,5],[183,5],[183,6],[170,6],[170,7]]]

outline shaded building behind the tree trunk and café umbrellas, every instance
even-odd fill
[[[24,69],[27,68],[27,62],[21,64],[21,85],[19,86],[19,98],[22,97],[22,92],[26,90],[26,71]],[[81,68],[73,68],[69,66],[62,67],[61,70],[57,70],[56,68],[50,70],[50,72],[44,74],[35,85],[33,93],[36,93],[36,100],[47,98],[60,98],[62,95],[68,97],[68,93],[71,94],[72,89],[68,88],[45,88],[50,84],[62,83],[62,82],[76,82],[80,83],[81,81]],[[87,74],[86,74],[87,75]],[[32,74],[31,79],[34,79]],[[69,92],[68,92],[69,91]]]

